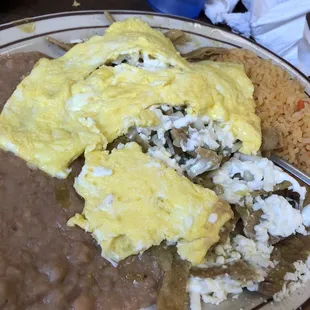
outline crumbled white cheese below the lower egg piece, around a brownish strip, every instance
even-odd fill
[[[200,268],[213,266],[225,266],[243,259],[256,272],[255,281],[242,282],[234,280],[228,275],[219,276],[215,279],[191,277],[188,280],[187,290],[190,294],[193,309],[199,308],[200,303],[195,300],[196,293],[199,293],[206,303],[218,305],[227,298],[228,294],[240,294],[243,288],[250,291],[258,290],[258,283],[264,280],[267,275],[266,269],[274,267],[270,260],[273,247],[261,242],[255,242],[242,235],[237,235],[232,242],[227,240],[225,244],[219,244],[214,248],[214,254],[208,254],[204,264]]]

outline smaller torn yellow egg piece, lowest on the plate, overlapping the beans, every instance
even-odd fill
[[[233,216],[213,191],[142,153],[136,143],[111,154],[87,153],[74,186],[85,208],[68,224],[91,232],[112,263],[163,240],[175,242],[183,259],[202,263]]]

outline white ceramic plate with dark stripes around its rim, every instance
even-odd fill
[[[186,18],[150,12],[110,12],[116,21],[138,17],[161,31],[172,28],[185,31],[189,35],[190,41],[182,46],[182,52],[189,52],[201,46],[235,47],[251,50],[261,58],[271,59],[274,64],[281,66],[305,87],[308,95],[310,94],[310,81],[304,74],[254,41],[215,26]],[[51,35],[63,42],[85,40],[95,34],[103,34],[109,24],[103,11],[57,13],[7,23],[0,25],[0,54],[40,51],[51,57],[58,57],[63,54],[63,51],[48,43],[45,40],[46,36]],[[238,299],[226,300],[220,306],[208,305],[205,308],[208,310],[295,310],[309,296],[309,285],[279,303],[273,303],[271,300],[265,301],[259,294],[247,292],[241,294]]]

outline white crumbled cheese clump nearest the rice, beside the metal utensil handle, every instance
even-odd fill
[[[238,174],[241,179],[236,177]],[[213,173],[212,179],[215,184],[223,186],[222,197],[233,204],[242,204],[243,197],[255,190],[272,191],[276,184],[284,181],[290,182],[292,185],[289,189],[300,195],[300,205],[306,194],[305,187],[301,187],[293,177],[267,158],[259,156],[235,154]]]

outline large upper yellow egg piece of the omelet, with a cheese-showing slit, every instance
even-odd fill
[[[147,109],[164,103],[230,124],[240,151],[256,153],[261,132],[252,93],[241,65],[188,63],[162,33],[128,19],[58,59],[40,60],[3,109],[0,147],[65,178],[85,149],[105,148],[133,125],[156,124]]]

